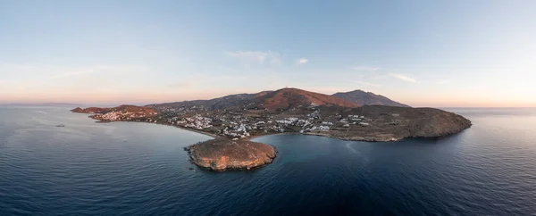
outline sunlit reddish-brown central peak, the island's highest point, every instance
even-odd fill
[[[297,88],[282,88],[277,91],[267,92],[263,96],[255,96],[249,101],[248,107],[275,110],[316,105],[359,106],[336,96],[323,95]]]

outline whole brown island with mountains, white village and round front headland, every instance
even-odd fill
[[[390,142],[444,137],[472,126],[454,112],[413,108],[363,91],[329,96],[297,88],[146,106],[78,107],[71,112],[90,113],[98,122],[150,122],[212,136],[215,139],[186,148],[191,162],[210,170],[249,170],[272,162],[275,149],[251,137],[296,133]]]

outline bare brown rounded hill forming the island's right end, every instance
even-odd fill
[[[396,141],[408,137],[444,137],[472,126],[471,120],[463,116],[434,108],[366,105],[354,109],[322,109],[321,112],[334,117],[357,115],[364,118],[355,125],[334,124],[330,130],[307,134],[356,141]]]

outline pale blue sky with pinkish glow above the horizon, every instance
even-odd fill
[[[282,87],[535,107],[536,1],[0,0],[0,104]]]

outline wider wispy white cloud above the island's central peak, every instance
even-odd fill
[[[225,55],[237,59],[239,62],[244,64],[244,66],[251,65],[263,65],[265,62],[270,64],[281,64],[281,54],[269,52],[259,52],[259,51],[236,51],[236,52],[225,52]]]

